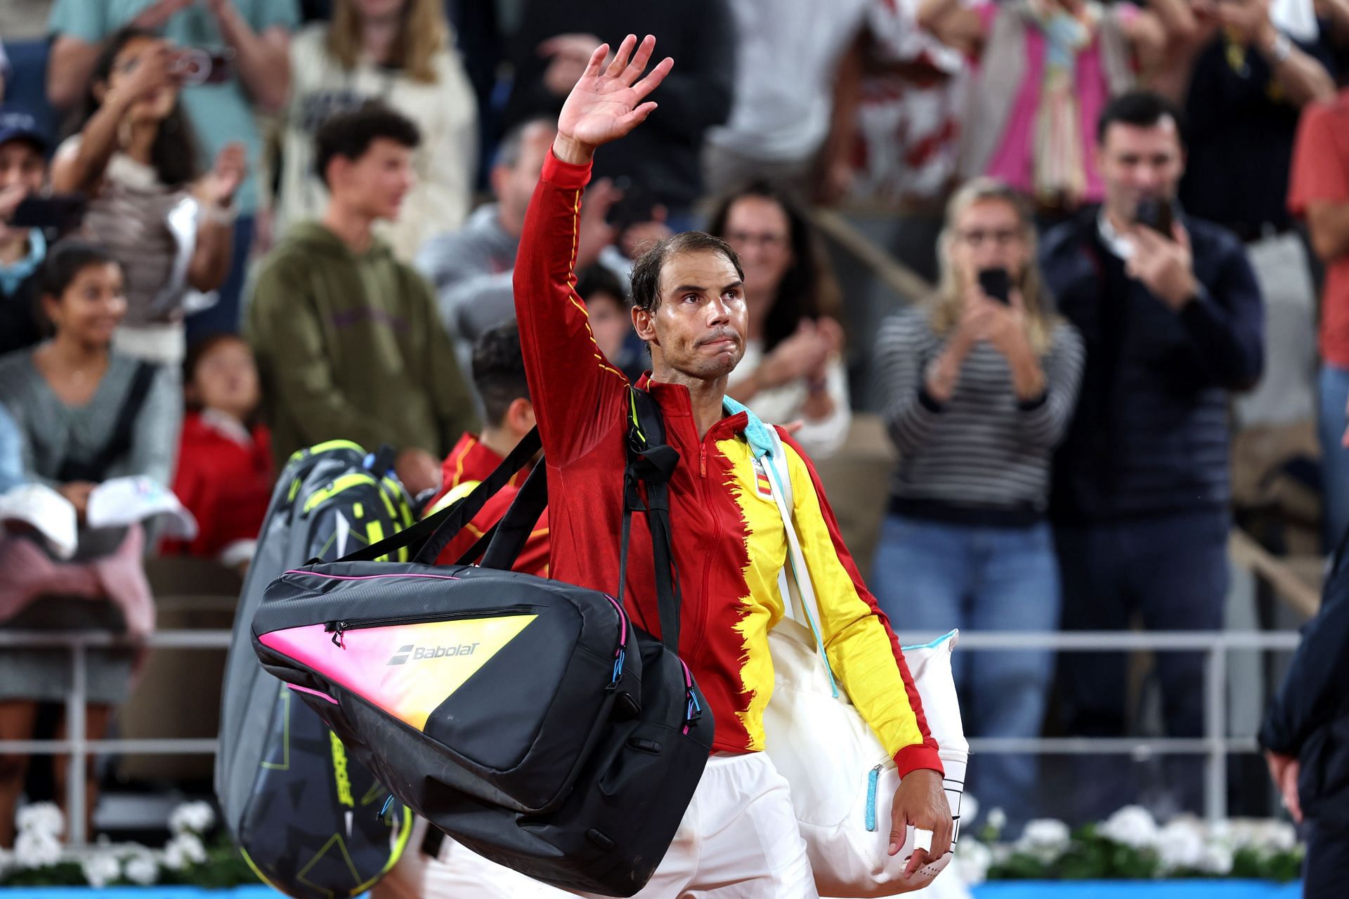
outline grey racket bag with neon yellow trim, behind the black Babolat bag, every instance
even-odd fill
[[[282,571],[339,558],[411,524],[407,495],[387,476],[389,456],[332,441],[290,457],[258,538],[225,663],[216,756],[221,814],[254,872],[301,899],[368,890],[402,853],[411,813],[384,809],[389,791],[263,670],[250,624]]]

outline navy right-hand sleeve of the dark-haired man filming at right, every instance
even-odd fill
[[[1224,244],[1213,287],[1199,284],[1180,323],[1215,383],[1248,390],[1264,369],[1264,301],[1245,251],[1234,239]]]

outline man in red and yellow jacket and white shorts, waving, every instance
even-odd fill
[[[600,46],[567,98],[515,261],[525,371],[549,468],[552,577],[608,592],[619,577],[629,384],[595,344],[573,264],[595,150],[660,115],[660,94],[645,97],[673,61],[642,77],[656,40],[648,36],[634,54],[635,44],[629,35],[607,66],[608,46]],[[711,705],[716,731],[674,844],[639,896],[817,895],[788,784],[761,752],[762,713],[773,691],[768,633],[784,616],[778,573],[788,546],[757,465],[772,434],[726,396],[726,379],[745,353],[741,282],[735,252],[700,232],[662,240],[633,270],[633,323],[653,369],[637,387],[656,399],[666,439],[680,454],[669,481],[683,589],[680,655]],[[907,824],[934,830],[931,850],[915,852],[912,871],[944,855],[951,841],[938,747],[898,642],[839,539],[815,469],[781,429],[778,437],[830,663],[902,778],[892,853]],[[629,611],[658,635],[643,516],[634,516],[633,530]]]

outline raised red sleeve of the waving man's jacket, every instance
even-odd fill
[[[544,174],[515,256],[515,318],[529,396],[544,454],[560,468],[584,456],[602,434],[627,388],[590,328],[576,295],[576,235],[590,166],[572,166],[548,152]]]

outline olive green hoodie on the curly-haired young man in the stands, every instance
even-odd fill
[[[430,287],[389,247],[353,253],[317,221],[263,260],[246,325],[272,452],[344,438],[445,456],[476,429]]]

